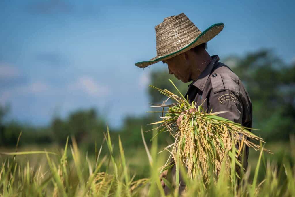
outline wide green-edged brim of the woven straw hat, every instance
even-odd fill
[[[214,38],[216,35],[219,34],[219,32],[222,31],[223,27],[224,27],[223,23],[216,23],[214,25],[211,25],[209,28],[207,28],[205,31],[203,31],[194,41],[192,41],[187,46],[181,48],[180,50],[175,51],[175,52],[170,53],[165,56],[156,56],[156,57],[150,59],[149,61],[137,62],[135,64],[135,66],[138,66],[140,68],[145,68],[145,67],[155,64],[159,61],[167,60],[167,59],[170,59],[174,56],[179,55],[180,53],[189,51],[191,48],[194,48],[197,45],[200,45],[202,43],[206,43],[209,40],[211,40],[212,38]]]

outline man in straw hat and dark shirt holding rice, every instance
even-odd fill
[[[174,74],[184,83],[193,81],[185,95],[190,103],[195,101],[198,105],[202,104],[207,112],[227,111],[229,113],[219,116],[251,128],[252,103],[248,92],[238,76],[219,62],[217,55],[210,56],[206,51],[207,41],[214,38],[223,27],[223,23],[218,23],[201,32],[183,13],[167,17],[155,27],[157,56],[135,65],[144,68],[159,61],[167,63],[169,74]],[[249,147],[245,147],[244,158],[240,158],[245,169],[248,166],[248,154]],[[175,165],[172,168],[174,173]],[[161,176],[165,175],[163,173]],[[180,182],[181,192],[185,185],[182,180]],[[166,188],[165,192],[168,192]]]

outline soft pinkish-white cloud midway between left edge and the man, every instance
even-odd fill
[[[108,87],[98,84],[89,76],[82,76],[70,86],[72,90],[81,90],[91,96],[105,96],[109,93]]]

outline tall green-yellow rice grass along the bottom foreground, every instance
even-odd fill
[[[7,156],[1,155],[5,160],[0,170],[0,196],[164,196],[159,178],[164,160],[157,154],[157,136],[150,148],[145,146],[146,157],[149,157],[150,161],[150,177],[140,180],[134,180],[135,175],[130,175],[120,137],[119,155],[113,154],[109,132],[106,133],[104,141],[109,153],[101,155],[100,147],[96,150],[94,160],[87,156],[81,157],[75,139],[72,139],[71,146],[67,140],[65,148],[60,153],[17,153],[16,157],[30,153],[45,154],[45,170],[42,170],[41,166],[32,167],[29,162],[24,165],[17,163],[14,159],[16,153],[1,153]],[[290,147],[293,159],[294,143],[293,139]],[[103,164],[107,166],[106,170],[102,170]],[[266,171],[264,180],[258,183],[258,172],[263,169],[260,168],[261,165]],[[179,170],[183,171],[183,167],[179,166]],[[212,170],[209,169],[211,172]],[[183,196],[295,196],[294,167],[288,162],[283,162],[283,165],[278,167],[275,163],[266,161],[262,149],[253,180],[249,180],[249,174],[250,171],[247,171],[239,186],[232,185],[230,176],[223,167],[218,177],[214,177],[212,173],[206,187],[201,175],[194,180],[184,177],[187,189]],[[169,183],[167,185],[172,187]],[[178,196],[178,188],[171,188],[171,191],[169,196]]]

